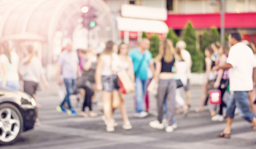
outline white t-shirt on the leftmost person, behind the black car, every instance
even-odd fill
[[[18,75],[18,63],[19,63],[19,56],[16,52],[11,52],[11,62],[9,62],[9,59],[6,55],[2,54],[0,56],[1,64],[6,64],[6,81],[19,81],[19,75]],[[2,81],[2,74],[1,74],[1,81]]]

